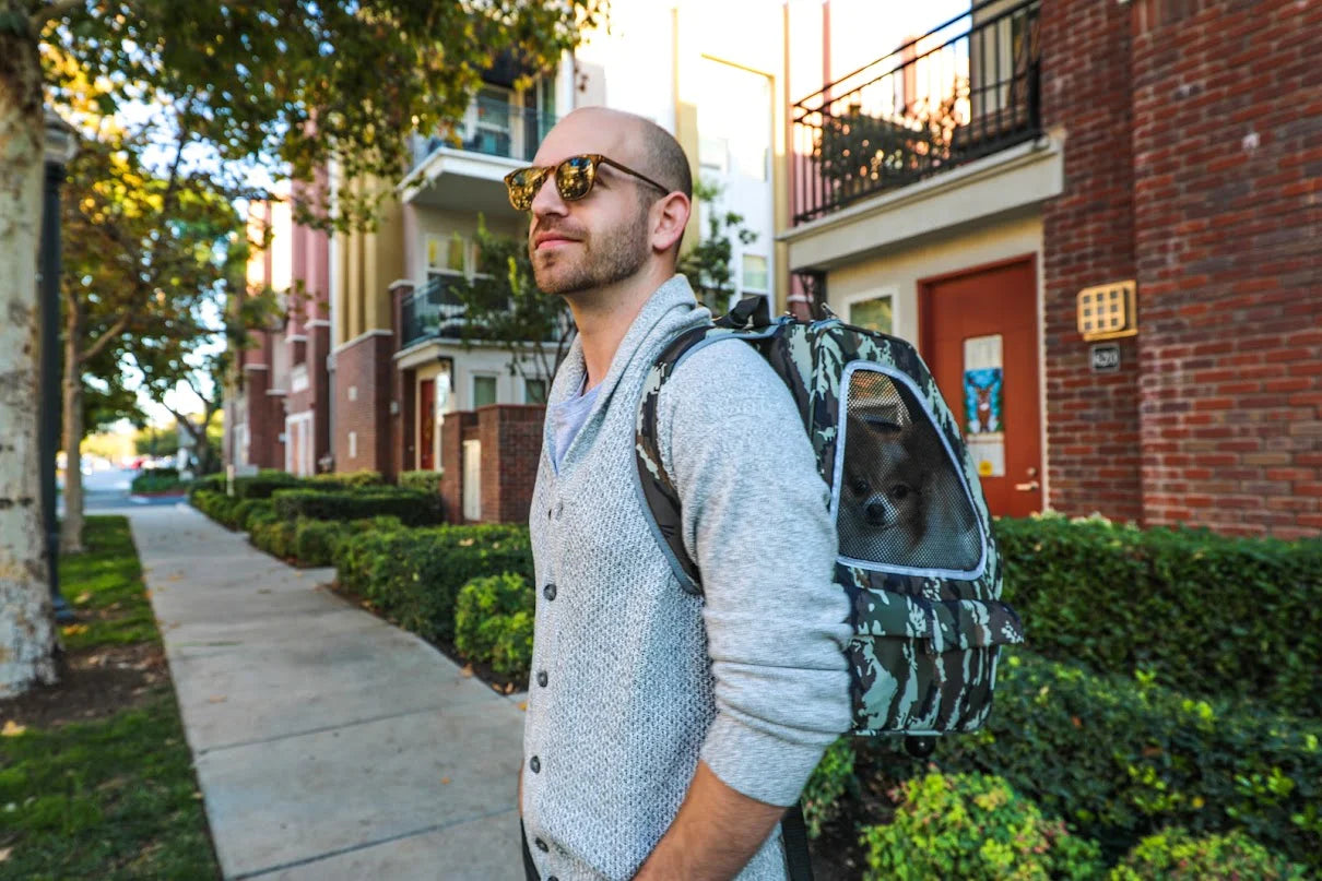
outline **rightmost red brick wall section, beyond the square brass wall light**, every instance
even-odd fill
[[[1322,4],[1137,0],[1132,34],[1144,520],[1318,535]]]

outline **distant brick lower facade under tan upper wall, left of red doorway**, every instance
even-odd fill
[[[375,470],[387,478],[394,477],[390,416],[393,351],[393,335],[371,333],[336,353],[336,419],[330,439],[336,472]],[[350,433],[356,435],[356,456],[349,454]]]

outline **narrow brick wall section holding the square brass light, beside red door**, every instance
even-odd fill
[[[1048,503],[1067,514],[1141,518],[1138,357],[1092,374],[1076,330],[1081,288],[1134,276],[1129,11],[1042,4],[1043,125],[1064,136],[1064,193],[1043,209],[1043,342]]]

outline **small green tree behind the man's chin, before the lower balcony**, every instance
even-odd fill
[[[464,345],[494,343],[509,353],[512,374],[550,379],[570,351],[576,328],[564,297],[546,296],[533,280],[527,239],[498,235],[479,215],[477,273],[451,285],[461,308]],[[547,383],[549,386],[550,383]]]

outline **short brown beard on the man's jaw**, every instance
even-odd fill
[[[542,227],[539,231],[554,230]],[[600,235],[590,231],[578,238],[578,247],[570,254],[539,254],[529,243],[533,279],[546,295],[572,296],[623,281],[635,275],[648,260],[650,247],[646,240],[648,211],[640,210],[628,223],[605,230]]]

